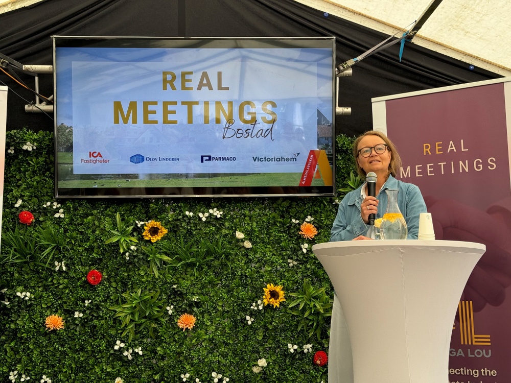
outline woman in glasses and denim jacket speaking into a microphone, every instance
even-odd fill
[[[387,208],[386,189],[399,190],[398,207],[408,228],[407,239],[416,240],[419,234],[419,216],[425,213],[426,204],[419,187],[394,178],[401,167],[401,158],[388,137],[379,131],[368,131],[359,136],[353,145],[353,155],[358,174],[365,179],[367,173],[376,173],[376,197],[367,195],[367,182],[346,194],[332,226],[330,242],[370,240],[369,215],[381,218]],[[363,302],[360,302],[363,304]],[[330,383],[353,382],[353,360],[349,329],[346,327],[342,308],[334,294],[330,328]]]

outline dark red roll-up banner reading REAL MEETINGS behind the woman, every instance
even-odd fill
[[[449,381],[511,382],[511,184],[504,84],[387,100],[386,118],[387,134],[403,160],[398,178],[421,188],[436,239],[486,245],[460,297],[472,306],[463,306],[467,309],[454,321]]]

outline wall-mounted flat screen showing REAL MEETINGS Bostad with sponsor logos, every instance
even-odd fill
[[[335,195],[335,40],[53,36],[57,198]]]

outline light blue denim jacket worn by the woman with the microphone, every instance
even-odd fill
[[[330,242],[351,241],[359,235],[366,235],[369,225],[366,225],[360,216],[360,204],[362,203],[360,192],[364,185],[346,194],[339,204],[339,210],[330,234]],[[408,227],[407,239],[416,240],[419,234],[419,216],[421,213],[427,212],[421,190],[414,184],[397,180],[389,175],[387,182],[376,197],[379,201],[377,219],[382,218],[387,209],[386,189],[399,190],[398,206]]]

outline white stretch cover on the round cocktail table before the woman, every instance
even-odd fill
[[[346,241],[312,250],[344,311],[355,383],[449,381],[458,302],[484,245]]]

